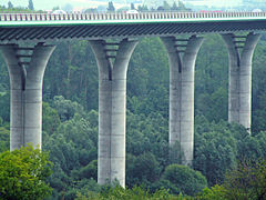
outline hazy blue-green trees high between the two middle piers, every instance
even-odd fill
[[[144,39],[137,44],[127,73],[129,110],[145,116],[156,111],[166,118],[168,116],[168,60],[158,38]],[[160,78],[155,78],[158,74]],[[139,100],[139,103],[133,107],[136,110],[132,110],[132,103],[130,104],[130,99],[133,97]]]

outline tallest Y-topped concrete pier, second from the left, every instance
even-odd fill
[[[89,42],[99,68],[98,182],[125,187],[126,71],[137,41]]]

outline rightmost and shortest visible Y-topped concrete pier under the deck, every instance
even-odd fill
[[[222,37],[229,59],[228,121],[239,123],[250,131],[252,58],[260,34],[237,37],[228,33]]]

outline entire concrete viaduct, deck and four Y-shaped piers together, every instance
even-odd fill
[[[99,69],[98,182],[125,186],[126,71],[139,40],[160,37],[170,62],[170,146],[191,164],[194,71],[206,33],[219,33],[229,60],[228,121],[250,130],[252,58],[266,12],[0,13],[0,49],[10,76],[10,150],[42,144],[42,80],[53,41],[88,40]],[[185,36],[177,39],[176,36]],[[112,39],[119,42],[110,42]],[[29,47],[30,44],[33,44]]]

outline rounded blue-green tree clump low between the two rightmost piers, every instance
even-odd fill
[[[209,186],[222,183],[227,170],[236,167],[237,136],[239,129],[227,122],[209,123],[205,118],[196,118],[195,154],[193,167],[201,171]],[[246,131],[243,131],[247,134]]]

